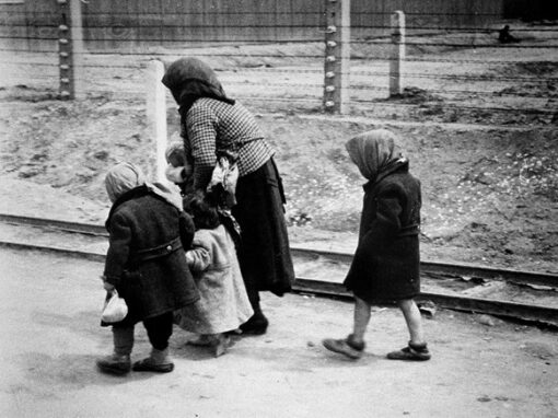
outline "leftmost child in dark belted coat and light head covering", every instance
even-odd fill
[[[130,371],[133,327],[141,321],[152,351],[132,369],[170,372],[174,369],[168,358],[173,312],[199,299],[183,249],[190,247],[194,222],[182,210],[179,196],[147,184],[132,164],[111,169],[105,185],[113,207],[106,221],[109,246],[104,288],[118,291],[128,315],[119,323],[102,324],[113,325],[114,353],[97,360],[97,367],[108,373]]]

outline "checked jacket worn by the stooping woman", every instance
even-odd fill
[[[187,155],[194,160],[196,189],[206,188],[211,179],[217,150],[239,154],[241,177],[259,169],[274,154],[254,116],[240,103],[198,98],[183,119],[181,135]]]

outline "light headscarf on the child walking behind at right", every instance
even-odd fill
[[[407,161],[395,143],[396,140],[392,131],[374,129],[351,138],[345,148],[360,173],[374,182],[382,172]]]

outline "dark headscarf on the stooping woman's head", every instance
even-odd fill
[[[234,104],[234,100],[224,93],[214,71],[197,58],[181,58],[174,61],[161,81],[171,90],[181,106],[182,115],[186,115],[194,102],[200,97]]]

